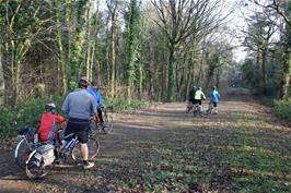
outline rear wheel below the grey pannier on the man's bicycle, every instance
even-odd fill
[[[25,171],[30,179],[43,178],[55,167],[55,162],[48,166],[42,166],[35,158],[36,154],[38,154],[36,150],[32,152],[26,161]]]

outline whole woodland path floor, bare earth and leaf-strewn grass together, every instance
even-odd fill
[[[27,180],[13,160],[13,140],[1,142],[0,192],[291,190],[290,128],[248,96],[224,98],[217,116],[194,118],[185,104],[114,114],[114,132],[98,136],[101,153],[89,171],[57,167],[43,180]],[[273,157],[266,158],[266,152]],[[278,155],[283,158],[275,160]],[[261,186],[248,185],[257,178]]]

